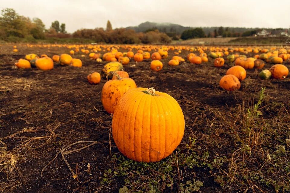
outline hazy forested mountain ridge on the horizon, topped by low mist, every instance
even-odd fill
[[[126,27],[126,29],[133,29],[136,32],[145,32],[146,30],[152,29],[152,28],[158,29],[160,32],[164,32],[164,33],[173,32],[173,33],[181,34],[184,30],[193,29],[195,27],[184,27],[178,24],[155,23],[155,22],[149,22],[149,21],[141,23],[138,26]],[[201,27],[201,28],[207,35],[208,33],[214,32],[214,30],[218,30],[219,27]],[[260,30],[260,29],[261,28],[224,27],[224,30],[227,30],[231,33],[243,33],[249,30]],[[268,29],[268,30],[272,30],[272,29]]]

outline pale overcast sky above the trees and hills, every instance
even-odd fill
[[[136,26],[142,22],[170,22],[190,27],[288,28],[290,0],[0,0],[26,17],[38,17],[49,28],[58,20],[70,33],[81,28]]]

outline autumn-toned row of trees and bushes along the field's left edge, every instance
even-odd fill
[[[66,32],[66,24],[53,21],[46,29],[40,18],[24,17],[14,9],[5,8],[0,17],[0,40],[11,41],[19,38],[27,40],[44,40],[47,38],[85,38],[102,43],[170,43],[171,39],[159,30],[136,33],[124,28],[114,29],[107,22],[107,29],[80,29],[72,34]]]

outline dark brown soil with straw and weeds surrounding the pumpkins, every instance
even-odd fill
[[[170,94],[185,116],[185,134],[172,156],[160,163],[135,163],[121,155],[111,136],[112,115],[101,104],[106,80],[98,85],[87,81],[106,62],[76,54],[82,68],[55,64],[51,71],[23,70],[14,62],[25,54],[51,57],[69,49],[18,49],[0,48],[2,192],[119,192],[124,186],[123,192],[289,190],[289,76],[260,80],[259,70],[250,69],[240,90],[227,92],[219,87],[233,65],[227,61],[222,68],[213,67],[210,58],[201,65],[169,66],[175,55],[169,51],[159,72],[150,70],[150,60],[131,61],[124,70],[137,86]],[[186,59],[188,53],[182,50],[180,55]],[[289,62],[285,65],[290,69]],[[266,63],[265,69],[270,66]],[[266,90],[256,116],[261,87]]]

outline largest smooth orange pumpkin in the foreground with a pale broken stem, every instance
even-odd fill
[[[169,156],[181,142],[184,127],[184,116],[177,101],[154,88],[126,92],[112,120],[112,134],[118,149],[138,162],[157,162]]]

